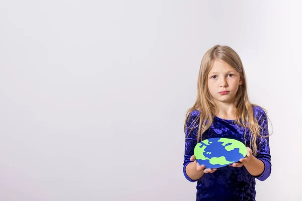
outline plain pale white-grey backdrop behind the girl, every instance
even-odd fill
[[[241,56],[249,97],[273,125],[257,200],[302,200],[299,8],[1,1],[0,200],[195,200],[184,118],[216,44]]]

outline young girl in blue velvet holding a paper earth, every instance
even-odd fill
[[[197,181],[196,200],[255,200],[255,178],[271,173],[267,116],[251,104],[239,55],[215,45],[201,60],[197,99],[185,121],[183,173]],[[247,146],[247,156],[229,166],[207,169],[195,160],[194,147],[205,139],[223,137]]]

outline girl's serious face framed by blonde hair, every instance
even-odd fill
[[[207,76],[208,89],[215,104],[234,103],[239,85],[240,74],[228,63],[215,60]]]

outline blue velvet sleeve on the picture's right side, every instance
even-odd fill
[[[260,129],[262,138],[257,139],[258,149],[256,158],[261,160],[264,163],[264,170],[259,176],[255,176],[260,181],[264,181],[271,174],[271,155],[269,148],[269,132],[268,132],[268,124],[267,124],[267,116],[266,113],[259,109],[258,112],[258,124],[262,127]]]

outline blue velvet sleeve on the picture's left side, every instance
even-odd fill
[[[195,182],[197,180],[192,180],[186,173],[186,166],[192,162],[190,161],[191,156],[194,154],[194,148],[197,144],[197,132],[198,132],[198,124],[199,117],[197,114],[190,114],[187,118],[186,127],[185,127],[185,153],[184,153],[184,163],[183,163],[183,173],[186,179],[191,182]]]

